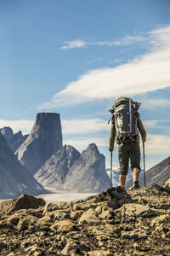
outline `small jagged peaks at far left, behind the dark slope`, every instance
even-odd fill
[[[3,127],[0,131],[5,138],[8,147],[11,148],[13,152],[15,152],[28,137],[28,135],[23,136],[21,131],[14,134],[10,127]]]

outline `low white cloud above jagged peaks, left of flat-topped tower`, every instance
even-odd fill
[[[23,134],[29,133],[34,124],[34,120],[20,119],[20,120],[4,120],[0,119],[0,128],[9,126],[14,133],[22,131]]]

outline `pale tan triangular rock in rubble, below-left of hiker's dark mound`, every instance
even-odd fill
[[[96,212],[93,209],[88,209],[88,211],[82,213],[78,224],[96,224],[99,223],[99,218],[96,216]]]

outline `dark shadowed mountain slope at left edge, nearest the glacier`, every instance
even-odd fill
[[[20,194],[38,195],[44,193],[30,172],[20,164],[0,133],[0,198],[14,198]]]

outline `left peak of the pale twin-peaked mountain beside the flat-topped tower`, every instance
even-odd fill
[[[65,183],[65,177],[71,166],[79,157],[80,153],[75,148],[65,145],[45,162],[34,177],[44,186],[54,186],[59,189]]]

